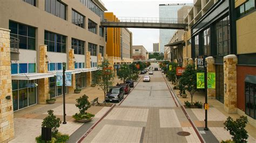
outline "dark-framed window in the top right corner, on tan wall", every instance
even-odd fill
[[[246,13],[255,9],[255,0],[248,0],[246,3],[238,6],[237,10],[237,17],[241,17]]]

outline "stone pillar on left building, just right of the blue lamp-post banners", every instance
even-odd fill
[[[74,60],[75,54],[74,49],[69,49],[69,70],[75,70],[75,60]],[[71,78],[72,85],[71,87],[68,87],[69,94],[72,94],[74,90],[76,89],[76,75],[72,74]]]

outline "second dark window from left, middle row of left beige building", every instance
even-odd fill
[[[66,53],[66,37],[64,35],[44,31],[44,44],[49,52]]]

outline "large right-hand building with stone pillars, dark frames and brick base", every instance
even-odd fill
[[[188,32],[183,35],[187,51],[184,63],[194,61],[197,66],[198,60],[206,57],[207,72],[215,73],[215,89],[207,89],[208,98],[223,103],[228,113],[247,116],[253,126],[256,126],[255,19],[254,0],[194,1],[185,18]]]

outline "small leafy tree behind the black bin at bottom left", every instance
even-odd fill
[[[44,118],[42,122],[42,127],[50,127],[52,128],[51,134],[55,135],[58,133],[58,128],[60,126],[60,118],[57,118],[55,115],[53,115],[53,110],[48,110],[48,116]]]

